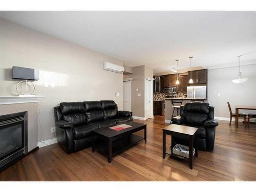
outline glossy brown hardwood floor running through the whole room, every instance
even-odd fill
[[[92,148],[66,154],[58,144],[39,148],[0,173],[1,181],[255,181],[256,125],[236,128],[218,121],[214,152],[199,151],[193,170],[186,161],[162,159],[164,117],[146,121],[147,143],[137,145],[108,163]],[[138,134],[143,135],[143,131]],[[170,143],[170,139],[166,140]],[[169,147],[169,146],[166,146]]]

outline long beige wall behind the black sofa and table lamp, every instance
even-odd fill
[[[0,96],[18,94],[12,66],[40,70],[35,94],[46,98],[39,103],[42,132],[38,131],[38,140],[55,137],[51,133],[55,126],[53,107],[60,102],[115,100],[122,110],[123,75],[103,70],[103,61],[123,65],[119,59],[0,18]]]

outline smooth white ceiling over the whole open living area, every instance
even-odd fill
[[[0,17],[155,73],[256,59],[256,11],[0,11]]]

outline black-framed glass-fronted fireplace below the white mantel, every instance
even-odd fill
[[[28,112],[0,116],[0,171],[28,153]]]

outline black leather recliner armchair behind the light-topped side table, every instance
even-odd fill
[[[187,102],[180,108],[180,115],[172,118],[172,124],[180,124],[199,128],[197,132],[198,149],[213,151],[215,128],[219,123],[214,120],[214,106],[209,103]],[[176,142],[187,145],[187,141],[174,138]],[[188,146],[188,145],[187,145]]]

